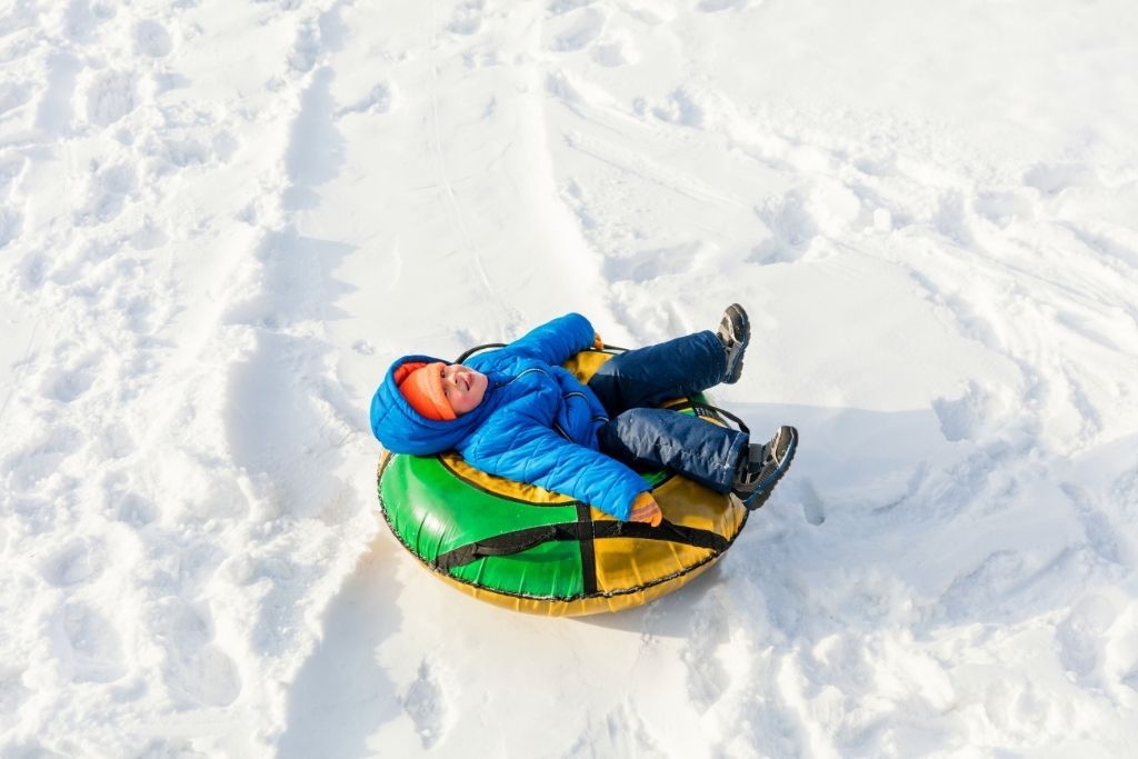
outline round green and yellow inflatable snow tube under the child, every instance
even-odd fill
[[[564,366],[587,381],[611,355],[584,350]],[[700,396],[663,405],[726,423]],[[749,511],[732,495],[667,470],[642,476],[663,511],[655,528],[487,475],[453,451],[386,453],[378,490],[395,537],[450,585],[516,611],[580,616],[675,591],[711,567],[747,522]]]

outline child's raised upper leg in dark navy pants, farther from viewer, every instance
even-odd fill
[[[726,370],[723,343],[704,330],[613,356],[593,374],[588,387],[616,415],[715,387]]]

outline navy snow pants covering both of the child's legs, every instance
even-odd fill
[[[748,435],[653,407],[715,387],[726,371],[726,352],[709,330],[613,356],[588,381],[610,416],[597,432],[601,451],[629,465],[668,467],[729,493]]]

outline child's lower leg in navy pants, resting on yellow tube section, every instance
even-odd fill
[[[749,443],[747,432],[663,409],[630,409],[605,423],[597,438],[613,459],[668,467],[717,493],[732,492]]]

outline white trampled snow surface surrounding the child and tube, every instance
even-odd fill
[[[0,756],[1138,754],[1132,0],[0,3]],[[751,311],[725,559],[513,614],[388,362]]]

